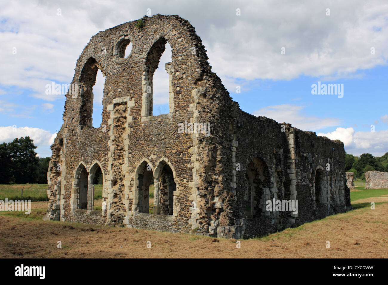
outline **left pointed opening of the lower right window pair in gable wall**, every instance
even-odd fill
[[[149,186],[154,172],[151,163],[143,159],[136,168],[132,211],[149,214]]]

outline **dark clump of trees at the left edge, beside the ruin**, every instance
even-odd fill
[[[36,156],[29,136],[0,144],[0,184],[47,183],[50,157]]]

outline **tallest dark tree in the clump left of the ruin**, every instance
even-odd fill
[[[29,136],[15,138],[7,145],[10,153],[11,182],[17,184],[33,183],[36,176],[38,158],[36,146]]]

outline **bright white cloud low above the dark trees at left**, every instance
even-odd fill
[[[52,134],[50,131],[40,128],[17,126],[16,128],[13,128],[12,126],[0,127],[0,143],[11,142],[14,138],[20,138],[22,136],[29,136],[34,140],[35,146],[43,147],[52,145],[57,134]]]

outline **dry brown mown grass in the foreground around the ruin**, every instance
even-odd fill
[[[267,237],[239,240],[241,248],[236,247],[236,240],[223,238],[43,221],[47,202],[33,202],[29,215],[0,214],[0,257],[387,258],[388,192],[380,194],[355,200],[355,210],[345,214]],[[376,203],[376,209],[370,208],[370,202]],[[58,241],[62,248],[57,248]]]

